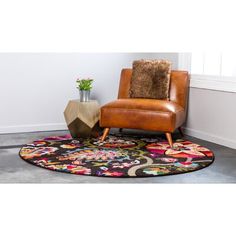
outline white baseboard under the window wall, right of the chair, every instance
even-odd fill
[[[230,147],[230,148],[234,148],[236,149],[236,141],[232,140],[232,139],[227,139],[227,138],[223,138],[220,136],[216,136],[216,135],[212,135],[210,133],[206,133],[203,131],[199,131],[199,130],[195,130],[195,129],[191,129],[188,127],[183,127],[184,132],[187,135],[199,138],[199,139],[204,139],[206,141],[209,142],[213,142],[213,143],[217,143],[226,147]]]

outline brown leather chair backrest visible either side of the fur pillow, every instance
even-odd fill
[[[129,98],[132,69],[123,69],[120,76],[118,98]],[[170,101],[176,102],[184,109],[187,106],[189,76],[187,71],[172,70],[170,76]]]

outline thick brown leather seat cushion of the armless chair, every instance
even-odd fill
[[[172,101],[118,99],[101,108],[101,127],[173,132],[184,120],[184,109]]]

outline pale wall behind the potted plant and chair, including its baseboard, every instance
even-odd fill
[[[104,104],[117,97],[120,71],[135,59],[175,53],[2,53],[0,133],[66,129],[63,111],[79,97],[77,77],[91,77],[92,98]]]

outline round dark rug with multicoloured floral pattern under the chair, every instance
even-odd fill
[[[109,177],[180,174],[214,161],[212,151],[187,140],[177,139],[170,148],[161,138],[121,134],[110,135],[104,142],[70,135],[47,137],[25,145],[19,155],[49,170]]]

